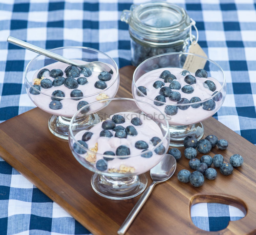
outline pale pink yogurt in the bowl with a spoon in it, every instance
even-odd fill
[[[81,61],[81,60],[74,60],[74,61],[81,63],[81,64],[88,63],[88,62]],[[38,72],[44,68],[49,69],[50,71],[52,69],[61,69],[63,71],[62,77],[66,78],[67,76],[64,71],[68,66],[69,65],[67,65],[66,63],[58,61],[58,62],[52,63],[50,65],[47,65],[45,67],[42,67],[38,71],[36,71],[36,73],[34,74],[31,84],[32,85],[34,84],[34,79],[37,78]],[[83,95],[87,96],[86,98],[82,98],[80,100],[69,99],[70,92],[73,91],[74,89],[69,89],[69,88],[65,87],[64,84],[62,84],[61,86],[58,86],[58,87],[52,86],[51,88],[48,88],[48,89],[44,89],[40,86],[42,93],[40,93],[38,95],[33,95],[28,92],[29,96],[30,96],[31,100],[40,109],[42,109],[48,113],[51,113],[53,115],[58,115],[58,116],[72,117],[77,112],[77,104],[82,100],[87,101],[90,104],[94,101],[97,101],[97,97],[102,93],[108,96],[106,98],[112,98],[115,96],[115,94],[118,90],[118,85],[119,85],[119,79],[118,79],[119,75],[116,73],[116,70],[113,68],[113,66],[111,66],[109,64],[108,64],[108,66],[111,67],[113,74],[112,74],[112,78],[109,81],[105,82],[107,84],[106,89],[101,90],[101,89],[94,87],[94,83],[99,80],[98,79],[99,72],[92,72],[92,75],[90,77],[86,77],[88,80],[88,83],[86,83],[84,85],[80,85],[80,84],[78,85],[78,88],[76,88],[76,89],[81,90],[83,92]],[[46,75],[47,75],[47,73],[46,73]],[[82,73],[80,73],[79,77],[84,77],[84,75]],[[54,78],[50,77],[49,74],[48,74],[48,76],[45,76],[44,78],[48,78],[51,81],[54,80]],[[75,78],[75,79],[77,79],[77,78]],[[62,108],[59,110],[53,110],[53,109],[49,108],[49,103],[52,101],[51,94],[55,90],[61,90],[62,92],[65,93],[66,99],[63,98],[63,100],[60,101],[62,103]],[[104,104],[105,103],[103,103],[103,102],[102,103],[99,102],[98,108],[100,109]],[[96,107],[94,106],[94,108],[96,108]]]

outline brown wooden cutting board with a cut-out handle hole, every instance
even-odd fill
[[[132,66],[120,69],[117,97],[132,97],[134,69]],[[50,133],[47,127],[49,116],[35,108],[1,123],[1,157],[94,235],[116,234],[140,196],[115,201],[96,194],[90,181],[93,173],[76,161],[68,142]],[[177,180],[179,170],[189,169],[189,160],[183,155],[177,162],[173,177],[156,185],[127,235],[256,234],[256,147],[214,118],[203,124],[205,135],[213,134],[229,142],[226,150],[214,147],[209,155],[222,154],[229,162],[231,155],[241,154],[244,164],[229,176],[221,175],[217,169],[215,180],[206,179],[203,186],[193,187]],[[184,148],[180,150],[183,153]],[[197,155],[198,158],[201,156]],[[149,172],[146,175],[150,184]],[[231,221],[224,230],[206,232],[197,228],[190,218],[191,205],[199,202],[237,206],[247,215],[241,220]]]

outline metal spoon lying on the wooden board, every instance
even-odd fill
[[[144,191],[140,199],[137,201],[130,214],[126,217],[125,221],[118,230],[119,235],[124,235],[130,227],[132,221],[146,202],[156,184],[168,180],[176,169],[176,160],[170,154],[165,154],[164,158],[155,167],[150,170],[150,176],[153,179],[151,185]]]

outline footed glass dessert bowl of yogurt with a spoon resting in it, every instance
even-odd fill
[[[43,55],[28,63],[25,88],[29,98],[38,108],[52,114],[48,121],[51,133],[68,140],[70,120],[78,109],[115,96],[119,87],[118,67],[108,55],[92,48],[59,47],[50,51],[81,64],[101,61],[112,69],[104,72],[81,70]]]

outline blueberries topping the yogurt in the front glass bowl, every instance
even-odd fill
[[[114,137],[118,137],[118,138],[127,138],[128,135],[136,136],[138,132],[136,131],[134,126],[142,125],[141,119],[138,117],[133,118],[131,120],[132,125],[129,125],[126,127],[123,127],[122,125],[116,125],[116,124],[122,124],[124,122],[125,122],[125,118],[122,115],[119,115],[119,114],[113,115],[111,120],[106,120],[102,122],[101,127],[103,130],[100,132],[99,136],[111,138],[114,132],[115,132]],[[90,140],[92,135],[93,135],[92,132],[87,131],[83,134],[82,140],[79,140],[78,142],[82,144],[84,147],[88,148],[86,141]],[[154,136],[150,140],[150,144],[152,144],[153,146],[156,146],[160,142],[161,142],[161,139],[157,136]],[[135,143],[135,148],[142,149],[141,157],[144,157],[144,158],[150,158],[153,156],[153,153],[151,151],[148,153],[143,153],[148,150],[148,147],[149,147],[148,143],[142,140],[139,140]],[[74,143],[73,149],[78,154],[86,153],[86,151],[80,148],[76,143]],[[154,150],[154,152],[156,154],[162,155],[165,153],[165,147],[161,144]],[[103,153],[103,155],[110,155],[110,156],[130,155],[130,148],[125,145],[120,145],[118,148],[116,148],[115,153],[112,151],[106,151]],[[126,158],[129,158],[129,157],[121,157],[120,159],[126,159]],[[102,171],[108,169],[108,161],[112,161],[113,159],[114,158],[111,158],[111,157],[103,157],[103,159],[100,159],[96,162],[96,168]]]

